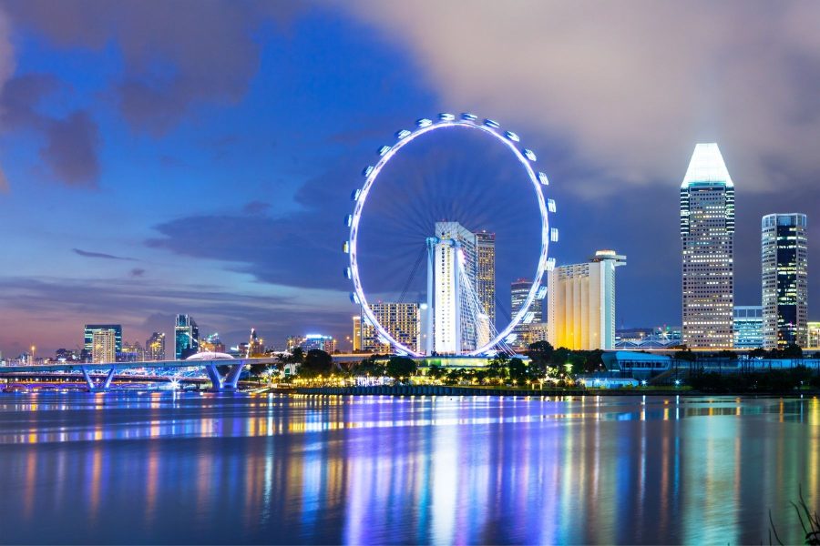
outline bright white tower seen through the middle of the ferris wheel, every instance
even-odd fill
[[[452,354],[477,349],[478,342],[482,341],[479,330],[484,329],[479,328],[468,310],[468,302],[461,297],[465,281],[476,289],[476,234],[458,222],[436,222],[436,237],[440,242],[434,250],[434,350],[439,354]],[[459,260],[457,268],[456,260]],[[456,274],[457,269],[464,270],[465,278]]]

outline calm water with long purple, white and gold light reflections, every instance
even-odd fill
[[[802,542],[817,399],[0,396],[0,541]]]

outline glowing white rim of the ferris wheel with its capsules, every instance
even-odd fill
[[[367,203],[367,196],[373,189],[374,184],[379,178],[379,174],[383,168],[398,154],[399,150],[421,136],[432,134],[436,131],[442,130],[471,130],[479,131],[480,133],[492,138],[494,141],[507,147],[510,153],[518,159],[518,163],[528,177],[531,187],[535,193],[538,203],[538,213],[540,215],[540,254],[538,257],[538,266],[533,276],[532,286],[529,288],[528,295],[524,304],[518,309],[518,312],[511,317],[509,324],[504,329],[498,331],[495,327],[492,328],[492,336],[488,342],[482,344],[476,349],[469,350],[463,353],[466,356],[483,356],[496,352],[497,348],[506,348],[507,342],[512,336],[512,331],[515,327],[525,319],[528,314],[528,308],[536,298],[543,298],[545,288],[541,286],[544,272],[553,268],[555,260],[548,258],[548,248],[550,242],[558,241],[558,229],[549,227],[549,214],[556,210],[555,201],[544,197],[546,187],[549,185],[548,177],[542,171],[536,170],[533,165],[537,161],[536,154],[527,147],[523,147],[520,142],[520,137],[512,131],[503,130],[496,121],[492,119],[484,119],[481,121],[477,116],[472,114],[461,114],[455,116],[453,114],[439,114],[436,120],[422,118],[415,122],[415,128],[412,130],[402,129],[395,133],[395,144],[392,146],[383,146],[378,149],[379,160],[375,165],[370,165],[364,168],[362,175],[364,176],[364,185],[361,188],[354,189],[351,195],[354,201],[354,212],[344,218],[344,223],[350,227],[350,236],[343,244],[343,251],[349,255],[350,265],[344,268],[344,276],[353,281],[354,290],[350,294],[351,301],[357,305],[361,305],[364,316],[363,323],[366,318],[370,324],[374,326],[379,336],[389,343],[396,351],[406,353],[415,357],[422,357],[424,353],[417,349],[406,347],[397,341],[387,329],[374,317],[368,302],[367,295],[362,286],[362,279],[359,274],[359,263],[357,255],[357,241],[359,224],[364,214],[364,207]]]

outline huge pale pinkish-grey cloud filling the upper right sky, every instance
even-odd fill
[[[544,167],[555,177],[571,163],[588,197],[672,186],[704,140],[721,144],[739,189],[820,175],[820,4],[340,5],[405,47],[444,107],[497,116],[539,147],[569,141]],[[799,179],[773,167],[784,163]]]

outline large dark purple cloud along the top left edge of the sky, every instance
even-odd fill
[[[253,31],[287,23],[295,3],[229,0],[11,1],[15,23],[59,47],[101,50],[113,41],[125,63],[113,86],[131,126],[163,134],[197,104],[233,105],[260,66]]]

